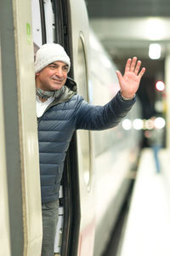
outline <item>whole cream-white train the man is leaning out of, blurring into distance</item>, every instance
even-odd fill
[[[0,7],[0,255],[40,256],[34,55],[42,44],[63,45],[77,93],[95,105],[104,105],[120,90],[117,67],[90,28],[83,0],[2,1]],[[133,124],[139,116],[137,101],[126,118]],[[126,199],[140,142],[141,132],[122,124],[75,132],[59,191],[55,255],[102,255]]]

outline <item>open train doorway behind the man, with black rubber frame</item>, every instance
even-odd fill
[[[42,44],[57,43],[65,48],[72,61],[70,4],[70,1],[66,0],[31,1],[35,53]],[[72,65],[69,77],[74,77]],[[66,84],[67,86],[75,85],[71,79],[67,79]],[[77,255],[80,226],[77,170],[77,135],[75,133],[66,154],[59,190],[59,221],[54,244],[55,255]]]

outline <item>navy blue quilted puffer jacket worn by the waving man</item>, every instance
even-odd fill
[[[85,102],[65,86],[65,92],[38,119],[42,203],[59,198],[65,153],[76,129],[104,130],[118,125],[135,99],[122,100],[120,93],[104,107]]]

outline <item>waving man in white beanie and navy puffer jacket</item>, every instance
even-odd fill
[[[42,256],[54,255],[58,221],[59,184],[65,153],[75,130],[104,130],[117,125],[135,102],[145,68],[128,59],[124,76],[116,71],[121,90],[105,106],[93,106],[76,93],[76,83],[67,78],[69,56],[59,44],[44,44],[37,50],[35,71],[42,191]],[[81,84],[80,84],[81,86]]]

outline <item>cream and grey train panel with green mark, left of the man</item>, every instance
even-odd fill
[[[42,219],[30,1],[1,1],[0,26],[0,254],[38,256]]]

